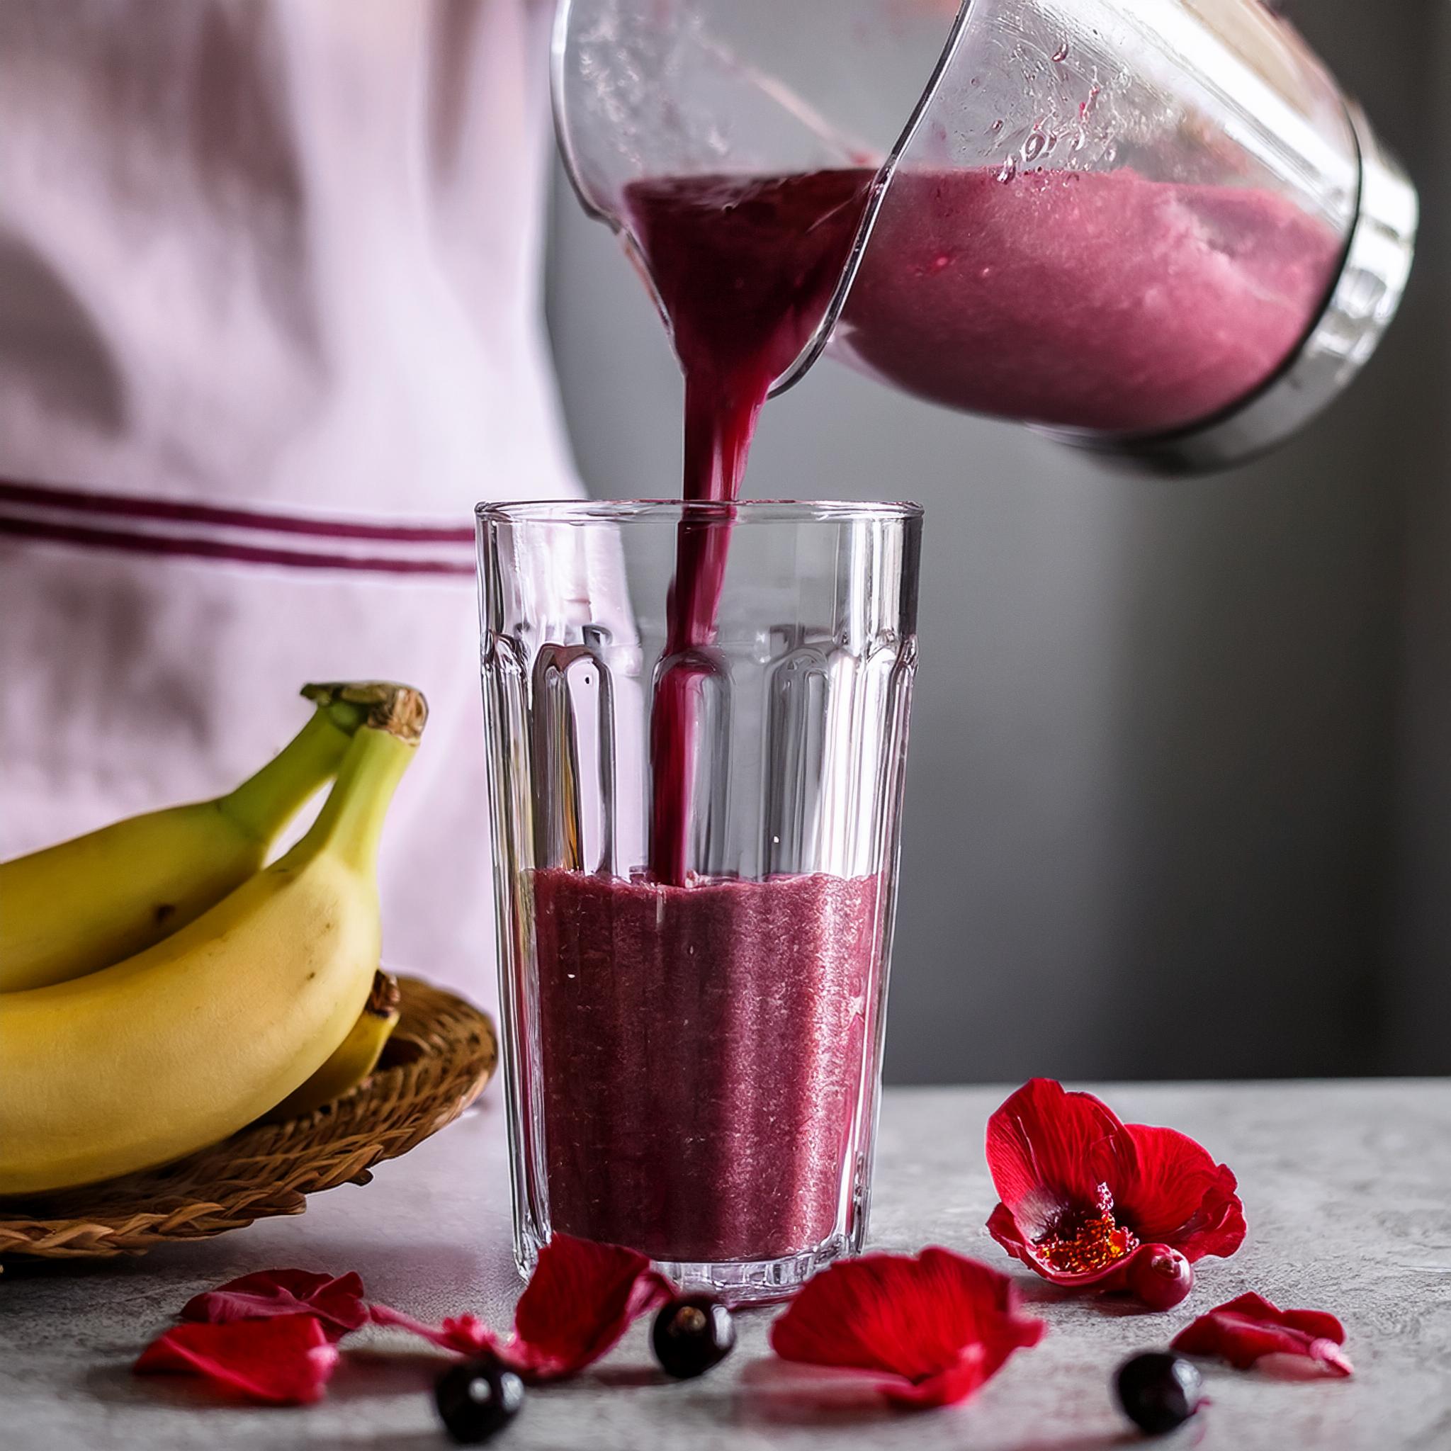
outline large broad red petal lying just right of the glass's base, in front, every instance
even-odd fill
[[[843,1259],[810,1280],[770,1328],[789,1361],[875,1371],[878,1390],[907,1406],[963,1400],[1042,1320],[1016,1312],[1007,1275],[950,1249]]]

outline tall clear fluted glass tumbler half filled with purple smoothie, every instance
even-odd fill
[[[860,1248],[920,528],[910,503],[480,505],[522,1271],[557,1229],[743,1302]],[[686,593],[708,624],[666,653]]]

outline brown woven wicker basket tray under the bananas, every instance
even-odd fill
[[[163,1170],[44,1199],[0,1200],[0,1258],[102,1259],[168,1239],[209,1239],[254,1219],[300,1214],[303,1196],[366,1184],[451,1123],[498,1061],[476,1007],[399,978],[400,1016],[371,1077],[306,1119],[260,1123]]]

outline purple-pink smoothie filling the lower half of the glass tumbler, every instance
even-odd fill
[[[881,879],[550,869],[533,889],[553,1228],[689,1262],[843,1229],[875,1081]]]

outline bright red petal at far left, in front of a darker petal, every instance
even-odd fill
[[[181,1371],[274,1406],[318,1400],[338,1348],[315,1315],[225,1325],[173,1325],[135,1364],[136,1374]]]

